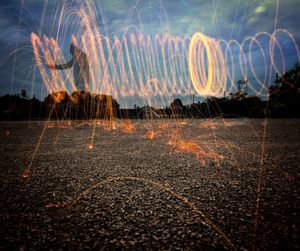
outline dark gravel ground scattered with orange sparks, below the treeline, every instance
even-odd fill
[[[299,249],[300,120],[128,124],[1,122],[0,250]]]

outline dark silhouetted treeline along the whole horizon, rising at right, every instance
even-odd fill
[[[204,102],[183,105],[179,98],[165,108],[145,105],[120,109],[110,95],[61,91],[49,94],[44,101],[20,95],[0,97],[1,120],[35,119],[111,119],[131,118],[211,118],[225,117],[300,117],[300,66],[277,77],[269,88],[269,101],[259,97],[231,95],[207,98]]]

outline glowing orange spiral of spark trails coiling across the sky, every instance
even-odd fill
[[[89,57],[90,91],[111,94],[116,98],[140,96],[148,100],[155,96],[163,98],[192,93],[221,96],[225,91],[229,93],[235,89],[236,76],[248,79],[249,75],[259,83],[259,88],[253,83],[249,88],[256,95],[264,95],[268,88],[267,74],[270,68],[279,74],[286,71],[284,50],[276,39],[280,33],[292,41],[300,60],[299,48],[292,34],[283,29],[272,34],[259,32],[253,37],[246,37],[242,43],[217,40],[199,32],[191,39],[170,34],[150,36],[143,33],[109,38],[92,31],[91,27],[87,30],[91,31],[82,35],[81,41],[73,36],[73,43],[81,43]],[[262,39],[269,40],[268,48],[262,46]],[[71,74],[49,72],[45,67],[46,64],[65,61],[57,42],[46,36],[40,38],[35,33],[31,34],[31,41],[48,91],[76,91]],[[264,63],[263,74],[255,69],[254,47]],[[280,53],[281,69],[274,60],[275,49]],[[236,51],[238,62],[233,56]]]

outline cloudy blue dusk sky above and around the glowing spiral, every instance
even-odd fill
[[[93,7],[99,32],[107,36],[139,31],[192,37],[202,32],[241,43],[247,36],[277,28],[287,29],[300,44],[299,0],[1,0],[1,96],[18,94],[21,89],[40,99],[48,94],[36,67],[30,34],[54,37],[68,58],[67,46],[80,26],[76,10],[87,2]],[[286,67],[292,67],[297,62],[293,43],[286,35],[278,39]],[[257,74],[262,74],[262,64],[256,67]]]

